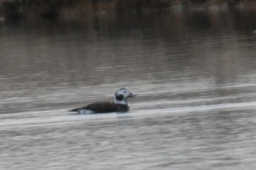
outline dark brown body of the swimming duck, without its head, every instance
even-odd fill
[[[97,102],[70,111],[80,112],[81,110],[91,110],[94,112],[94,114],[110,112],[128,112],[129,106],[124,104],[117,104],[114,102]]]

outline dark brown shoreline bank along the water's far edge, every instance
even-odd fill
[[[226,10],[236,9],[240,11],[255,11],[255,7],[256,2],[250,0],[228,0],[218,2],[213,0],[0,0],[0,16],[6,20],[32,18],[69,19],[66,15],[103,15],[104,13],[115,13],[116,15],[140,15],[147,12],[166,12],[173,8],[185,8],[186,10],[209,10],[213,8],[221,8]]]

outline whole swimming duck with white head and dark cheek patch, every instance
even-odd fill
[[[127,98],[134,97],[126,88],[121,88],[115,93],[115,102],[97,102],[90,105],[79,107],[70,112],[77,112],[79,114],[97,114],[110,112],[128,112],[129,106]]]

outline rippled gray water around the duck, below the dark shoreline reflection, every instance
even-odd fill
[[[255,169],[256,34],[1,26],[3,169]],[[126,114],[67,110],[137,94]]]

